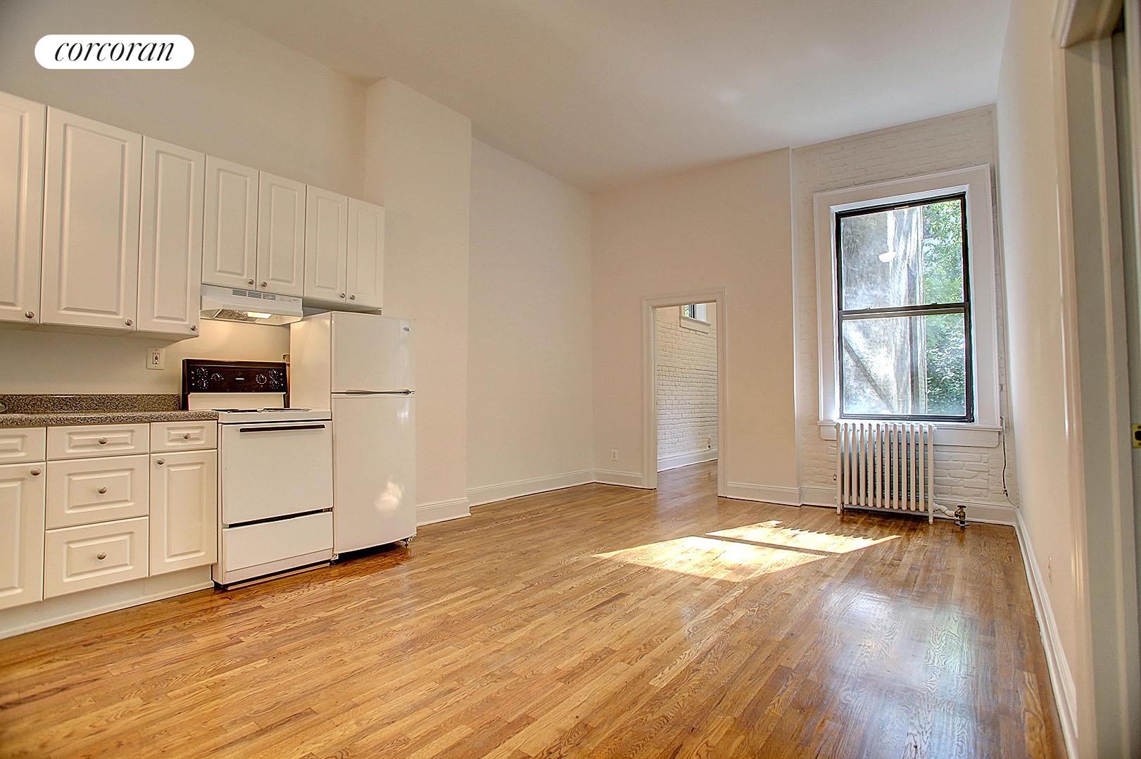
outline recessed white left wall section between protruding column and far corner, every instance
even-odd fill
[[[471,501],[589,481],[590,196],[474,142],[469,274]]]

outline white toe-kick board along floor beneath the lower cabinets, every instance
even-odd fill
[[[0,612],[0,639],[208,588],[213,580],[205,566],[57,596]]]

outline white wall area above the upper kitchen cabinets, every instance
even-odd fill
[[[180,71],[47,71],[43,34],[184,34]],[[361,194],[365,88],[196,2],[0,3],[0,90],[291,179]]]

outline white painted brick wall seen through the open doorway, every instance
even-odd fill
[[[717,315],[709,318],[698,332],[681,326],[678,308],[654,314],[658,459],[717,447]]]

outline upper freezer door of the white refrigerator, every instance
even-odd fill
[[[333,393],[414,390],[412,323],[334,312]]]

